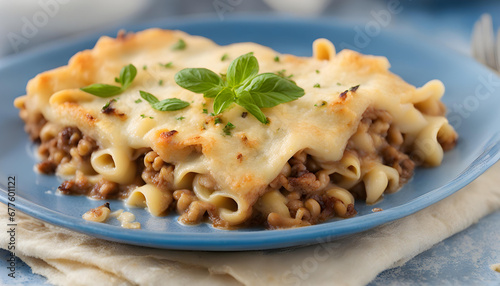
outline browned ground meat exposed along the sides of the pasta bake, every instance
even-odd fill
[[[53,174],[59,166],[71,162],[79,168],[86,168],[85,173],[91,172],[90,156],[99,148],[98,144],[76,127],[66,127],[56,136],[42,140],[40,130],[44,124],[46,121],[41,118],[36,123],[27,122],[26,128],[33,140],[41,141],[39,153],[43,160],[37,165],[38,170]],[[404,134],[392,125],[392,117],[388,112],[369,108],[363,114],[358,132],[370,136],[376,151],[366,152],[349,140],[346,153],[351,153],[360,160],[374,160],[396,169],[400,185],[412,177],[416,163],[410,159],[410,148],[404,145]],[[443,142],[447,148],[450,144]],[[172,192],[174,201],[170,209],[176,209],[184,223],[199,223],[208,217],[215,225],[225,226],[214,205],[198,200],[192,190],[174,190],[175,166],[164,162],[156,152],[145,151],[138,157],[136,164],[136,180],[130,185],[119,185],[105,179],[91,181],[83,172],[77,171],[73,179],[64,181],[59,186],[59,190],[64,194],[81,194],[98,199],[126,198],[131,190],[148,183]],[[346,218],[355,215],[353,202],[346,203],[345,199],[325,192],[327,187],[335,185],[336,174],[325,175],[321,171],[322,168],[314,157],[304,151],[296,153],[268,187],[270,190],[279,190],[286,198],[290,218],[273,213],[266,216],[254,208],[252,217],[245,225],[267,225],[269,228],[303,226],[317,224],[332,217]],[[204,178],[203,182],[207,188],[213,185],[209,177]],[[349,191],[356,198],[366,197],[362,183]]]

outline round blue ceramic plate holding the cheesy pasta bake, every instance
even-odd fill
[[[60,180],[33,171],[34,145],[23,131],[23,122],[12,106],[24,93],[27,81],[39,72],[65,65],[76,52],[92,48],[98,35],[61,42],[45,49],[0,62],[0,201],[7,202],[9,176],[15,177],[15,204],[18,210],[55,225],[91,236],[130,244],[186,250],[255,250],[318,243],[361,232],[410,215],[453,194],[471,182],[500,157],[500,78],[474,60],[425,39],[382,31],[377,35],[357,33],[352,27],[331,21],[286,19],[184,20],[134,26],[180,29],[202,35],[219,44],[252,41],[282,53],[311,55],[314,39],[330,39],[340,50],[351,48],[366,54],[389,58],[391,70],[406,81],[421,86],[440,79],[447,90],[444,102],[448,118],[460,134],[457,147],[446,153],[443,164],[418,169],[414,178],[399,192],[385,196],[376,205],[384,211],[373,213],[373,206],[356,202],[358,215],[320,225],[288,229],[241,229],[224,231],[207,224],[183,226],[177,216],[157,218],[143,209],[132,209],[141,230],[123,229],[113,224],[84,221],[81,215],[103,202],[82,196],[63,196],[56,192]],[[116,31],[107,33],[115,35]],[[112,209],[127,207],[112,201]]]

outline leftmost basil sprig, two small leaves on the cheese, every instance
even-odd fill
[[[95,96],[104,98],[112,97],[125,91],[132,84],[136,75],[137,69],[133,64],[129,64],[124,66],[120,70],[120,76],[115,78],[115,82],[119,83],[121,86],[104,83],[94,83],[80,89]]]

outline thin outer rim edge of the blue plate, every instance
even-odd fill
[[[174,23],[176,26],[179,26],[196,25],[214,21],[217,20],[215,20],[214,18],[199,17],[176,19],[171,18],[168,20],[161,19],[152,22],[132,25],[126,28],[130,29],[131,31],[136,31],[155,26],[168,27],[169,25],[173,25]],[[228,23],[237,22],[240,24],[252,24],[256,21],[258,21],[259,23],[265,22],[269,24],[289,22],[292,24],[302,23],[304,25],[327,25],[337,28],[351,27],[348,24],[338,23],[336,21],[333,21],[332,19],[291,19],[288,17],[275,17],[273,19],[269,19],[266,17],[256,17],[254,15],[247,17],[238,17],[237,19],[235,17],[228,17],[225,20],[225,22]],[[98,33],[85,35],[76,39],[62,40],[58,41],[55,44],[46,45],[38,49],[33,49],[18,55],[14,55],[6,60],[0,61],[0,69],[5,69],[9,66],[18,64],[21,61],[25,61],[26,59],[37,57],[38,54],[45,51],[51,51],[54,49],[68,49],[72,45],[97,40],[100,35],[113,34],[113,32],[116,34],[117,30],[105,30]],[[396,31],[386,31],[384,33],[398,34],[398,32]],[[415,41],[415,39],[409,38],[409,36],[405,34],[400,34],[399,36],[402,37],[402,39]],[[437,47],[439,49],[447,49],[447,52],[454,53],[456,56],[464,57],[464,55],[458,53],[457,51],[448,49],[446,47],[438,46],[433,43],[428,43],[428,45]],[[488,73],[491,73],[480,64],[476,64],[479,68],[482,68],[483,70],[488,71]],[[145,230],[135,231],[123,229],[123,231],[117,232],[116,227],[114,226],[82,221],[82,219],[58,213],[54,210],[47,209],[21,197],[16,198],[16,208],[30,216],[77,232],[89,234],[106,240],[136,244],[141,246],[205,251],[264,250],[301,246],[330,241],[331,239],[337,239],[340,236],[365,231],[381,224],[411,215],[448,197],[449,195],[455,193],[459,189],[472,182],[500,159],[500,136],[494,137],[494,140],[491,141],[492,142],[489,143],[486,150],[480,156],[478,156],[477,159],[472,162],[462,172],[461,175],[452,179],[448,184],[429,191],[426,194],[419,196],[405,204],[386,209],[383,212],[363,215],[362,220],[357,220],[356,217],[354,217],[347,220],[335,221],[335,233],[332,233],[332,229],[328,228],[328,222],[326,222],[323,224],[308,226],[306,228],[265,231],[265,239],[262,238],[263,233],[260,231],[226,231],[224,232],[224,237],[221,237],[220,233],[192,232],[175,233],[166,236],[163,232],[153,232]],[[0,184],[0,202],[5,204],[8,203],[7,187],[2,184]],[[355,224],[353,225],[352,222],[355,222]]]

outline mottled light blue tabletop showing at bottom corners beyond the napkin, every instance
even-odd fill
[[[500,273],[490,269],[500,263],[500,212],[481,219],[477,224],[438,243],[401,267],[380,273],[368,286],[411,285],[500,285]],[[9,253],[0,249],[0,257]],[[33,274],[31,268],[18,260],[16,278],[7,276],[0,268],[3,285],[40,285],[43,276]],[[47,284],[49,285],[49,284]]]

